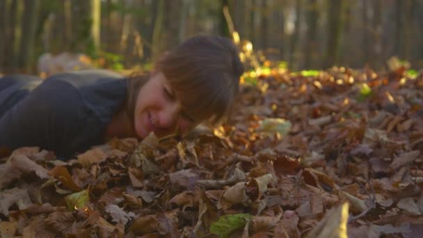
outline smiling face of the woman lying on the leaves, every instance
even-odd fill
[[[160,138],[175,133],[184,135],[198,123],[180,104],[165,75],[155,72],[138,93],[134,124],[140,138],[150,132]]]

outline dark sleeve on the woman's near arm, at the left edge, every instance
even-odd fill
[[[39,146],[67,154],[88,111],[79,91],[64,81],[47,79],[0,118],[0,145],[14,150]]]

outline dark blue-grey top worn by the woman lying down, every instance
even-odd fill
[[[127,97],[127,79],[106,70],[55,74],[45,80],[0,79],[0,147],[39,146],[70,157],[104,143],[113,113]]]

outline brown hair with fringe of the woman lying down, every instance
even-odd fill
[[[155,65],[169,80],[184,108],[198,122],[216,125],[232,110],[244,66],[228,38],[198,35],[182,42]],[[129,113],[147,76],[129,82]],[[137,85],[138,84],[138,85]],[[135,97],[135,99],[133,98]]]

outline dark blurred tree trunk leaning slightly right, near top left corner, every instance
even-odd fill
[[[25,72],[31,71],[34,62],[35,31],[38,22],[38,8],[40,1],[25,0],[22,18],[21,40],[19,51],[19,66]]]

